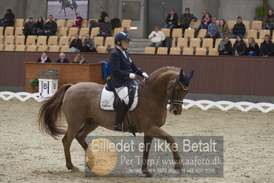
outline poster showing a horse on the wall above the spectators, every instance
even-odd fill
[[[84,0],[47,0],[47,17],[50,14],[54,19],[74,19],[76,12],[83,19],[88,18],[89,1]]]

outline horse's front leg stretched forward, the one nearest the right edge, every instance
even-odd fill
[[[183,167],[183,164],[181,163],[180,155],[178,153],[178,149],[174,148],[174,147],[176,147],[175,140],[174,140],[174,138],[172,138],[172,136],[170,136],[170,134],[165,133],[165,131],[163,131],[161,128],[159,128],[157,126],[153,126],[153,127],[149,128],[148,131],[144,131],[144,133],[147,136],[160,138],[160,139],[168,142],[168,144],[170,144],[170,147],[172,147],[170,149],[172,149],[173,159],[176,162],[174,169],[181,169]]]

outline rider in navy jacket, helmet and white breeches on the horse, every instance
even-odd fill
[[[116,131],[123,131],[121,121],[128,109],[128,87],[133,83],[135,74],[148,78],[148,74],[139,69],[131,60],[130,54],[126,52],[128,43],[131,39],[126,32],[119,32],[115,36],[116,49],[111,53],[111,87],[115,91],[122,103],[117,107],[117,116],[115,119],[114,129]]]

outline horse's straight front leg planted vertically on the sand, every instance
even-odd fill
[[[146,174],[146,177],[152,177],[152,173],[148,171],[148,155],[150,153],[150,145],[152,142],[153,137],[144,136],[144,151],[143,151],[143,163],[141,166],[141,172]]]

